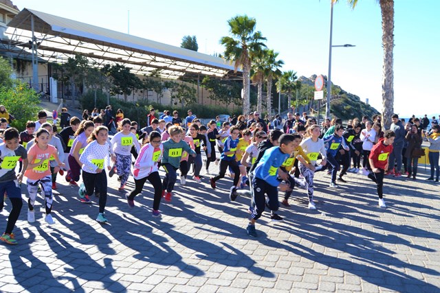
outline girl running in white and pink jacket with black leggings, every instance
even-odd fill
[[[141,149],[135,161],[133,177],[135,178],[135,189],[126,194],[126,202],[130,208],[135,206],[135,196],[142,192],[146,180],[154,187],[153,217],[160,217],[159,204],[162,198],[162,182],[159,176],[158,163],[162,159],[164,147],[162,146],[161,135],[152,131],[148,136],[148,143]]]

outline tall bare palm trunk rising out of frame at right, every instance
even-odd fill
[[[382,123],[385,129],[391,126],[394,113],[394,0],[380,0],[382,11],[382,47],[384,47],[384,64],[382,73]]]

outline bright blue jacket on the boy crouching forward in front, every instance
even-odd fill
[[[289,156],[290,154],[281,152],[278,146],[266,150],[254,169],[255,177],[277,187],[280,185],[280,181],[277,179],[278,169]]]

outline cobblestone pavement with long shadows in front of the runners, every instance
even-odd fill
[[[424,181],[423,165],[419,171],[415,182],[386,178],[388,209],[377,206],[365,176],[349,174],[349,183],[329,189],[329,177],[317,174],[318,210],[307,209],[305,191],[296,189],[292,207],[279,211],[285,220],[264,213],[257,238],[245,231],[249,199],[228,200],[231,178],[215,190],[208,175],[202,183],[188,178],[161,203],[162,218],[153,218],[151,185],[129,209],[113,176],[109,224],[101,225],[97,198],[79,202],[78,187],[58,176],[56,224],[45,224],[41,198],[34,224],[23,204],[19,245],[1,245],[0,291],[440,292],[440,185]],[[22,191],[27,198],[24,184]],[[9,210],[7,201],[3,228]]]

